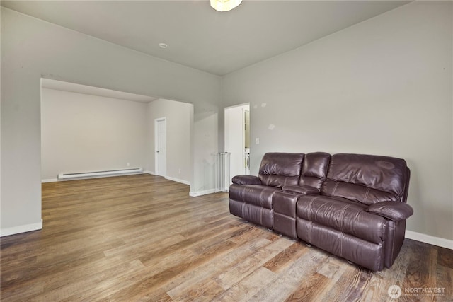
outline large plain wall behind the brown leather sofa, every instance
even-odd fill
[[[415,1],[224,76],[224,106],[251,103],[251,172],[268,151],[405,158],[408,230],[453,240],[452,16]]]

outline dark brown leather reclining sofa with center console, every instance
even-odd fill
[[[373,271],[403,245],[410,170],[363,154],[266,153],[258,176],[238,175],[230,213]]]

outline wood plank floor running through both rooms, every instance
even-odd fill
[[[147,174],[43,184],[42,230],[1,238],[1,301],[452,301],[452,250],[406,239],[373,273],[188,194]]]

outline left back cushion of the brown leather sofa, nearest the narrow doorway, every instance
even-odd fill
[[[303,160],[303,153],[265,153],[258,178],[270,187],[297,185]]]

